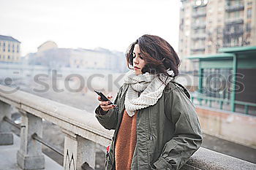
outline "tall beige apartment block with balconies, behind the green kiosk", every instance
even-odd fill
[[[256,45],[255,0],[181,2],[178,43],[181,70],[195,69],[185,58],[189,55],[217,53],[220,47]]]

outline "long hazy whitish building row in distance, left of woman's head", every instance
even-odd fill
[[[52,68],[108,69],[113,72],[127,70],[124,53],[100,47],[94,50],[58,48],[55,42],[45,42],[37,49],[37,53],[28,54],[29,64]]]

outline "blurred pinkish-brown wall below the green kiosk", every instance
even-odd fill
[[[256,148],[256,117],[209,107],[196,107],[203,132]]]

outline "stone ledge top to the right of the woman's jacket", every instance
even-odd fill
[[[256,164],[200,147],[181,170],[255,170]]]

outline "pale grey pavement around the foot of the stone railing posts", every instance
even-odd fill
[[[21,170],[16,161],[16,153],[20,147],[20,138],[16,135],[14,144],[0,146],[0,170]],[[63,169],[58,163],[45,155],[45,170],[61,170]]]

